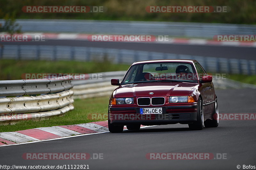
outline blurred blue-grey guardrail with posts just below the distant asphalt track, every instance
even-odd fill
[[[228,59],[197,55],[181,55],[113,48],[69,47],[69,46],[29,46],[4,45],[0,48],[0,59],[32,59],[32,60],[76,60],[102,61],[108,58],[113,63],[131,64],[136,61],[152,59],[195,59],[208,72],[233,74],[256,74],[256,60]],[[1,55],[2,54],[2,55]],[[0,84],[1,86],[1,84]],[[52,87],[53,88],[53,87]],[[1,87],[0,87],[1,90]],[[16,89],[20,90],[20,89]],[[53,89],[52,89],[53,90]],[[21,92],[22,89],[21,89]]]

